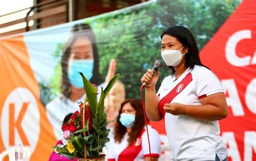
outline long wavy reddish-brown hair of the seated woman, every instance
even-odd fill
[[[122,123],[120,123],[119,121],[120,115],[122,114],[122,109],[126,103],[130,103],[131,106],[136,110],[135,121],[132,126],[131,132],[128,134],[129,135],[128,143],[129,145],[131,145],[136,142],[136,139],[139,137],[140,132],[142,132],[145,126],[145,121],[144,121],[142,102],[138,99],[125,100],[121,104],[121,108],[119,109],[119,114],[117,116],[116,126],[114,127],[115,142],[120,143],[126,133],[126,127],[124,127],[124,125],[122,125]],[[147,122],[149,122],[149,120],[147,120]]]

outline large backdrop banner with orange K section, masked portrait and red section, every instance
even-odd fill
[[[140,78],[161,59],[161,32],[183,25],[225,89],[230,114],[220,129],[230,160],[255,160],[255,7],[253,0],[151,1],[0,38],[0,152],[20,143],[30,149],[30,160],[49,159],[65,115],[84,98],[81,78],[70,71],[83,68],[104,86],[114,59],[125,97],[139,99]],[[161,68],[159,80],[170,74]],[[150,124],[168,144],[164,121]]]

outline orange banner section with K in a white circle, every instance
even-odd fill
[[[47,160],[56,143],[30,68],[23,36],[0,40],[0,151],[21,144],[30,160]],[[6,159],[7,157],[5,157]]]

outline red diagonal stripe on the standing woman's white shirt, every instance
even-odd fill
[[[183,80],[181,80],[177,86],[175,86],[171,92],[169,92],[166,96],[164,96],[158,103],[158,109],[161,113],[161,115],[165,116],[165,110],[164,110],[164,104],[165,103],[170,103],[172,100],[179,94],[181,93],[187,85],[192,82],[192,74],[188,73]],[[182,87],[181,87],[182,86]],[[179,88],[179,89],[178,89]],[[178,91],[177,91],[178,90]]]

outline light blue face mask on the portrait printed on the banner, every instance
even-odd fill
[[[69,80],[76,88],[83,88],[84,83],[82,76],[79,72],[82,72],[87,80],[90,80],[93,75],[93,59],[78,59],[71,60],[69,63]]]

